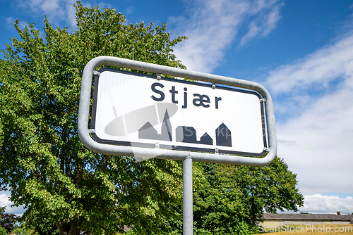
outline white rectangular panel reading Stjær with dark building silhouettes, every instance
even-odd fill
[[[263,156],[256,91],[102,68],[91,129],[100,144]]]

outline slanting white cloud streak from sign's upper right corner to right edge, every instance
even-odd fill
[[[270,72],[266,84],[275,94],[313,86],[327,88],[339,77],[352,76],[353,33],[335,44],[309,54],[294,63],[282,65]]]

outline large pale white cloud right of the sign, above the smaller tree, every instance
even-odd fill
[[[338,89],[277,125],[277,154],[298,174],[301,192],[353,193],[352,99],[352,87]]]

